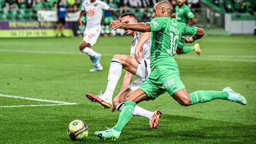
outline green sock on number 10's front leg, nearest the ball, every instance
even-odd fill
[[[119,121],[117,121],[117,124],[113,127],[114,130],[121,132],[128,121],[132,119],[135,105],[136,104],[132,101],[126,101],[124,103],[123,110],[121,110],[121,113],[119,114]]]

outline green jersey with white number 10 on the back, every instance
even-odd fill
[[[193,35],[197,27],[178,23],[169,17],[153,18],[151,22],[151,69],[160,65],[177,65],[174,60],[178,40],[184,35]]]

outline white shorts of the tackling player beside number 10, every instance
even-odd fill
[[[137,72],[136,72],[136,76],[139,79],[132,82],[132,84],[130,84],[128,86],[128,88],[130,88],[132,91],[135,91],[137,88],[140,87],[140,85],[142,85],[143,81],[145,81],[145,79],[148,78],[150,73],[151,73],[150,60],[149,59],[142,59],[142,61],[138,65],[138,69],[137,69]]]

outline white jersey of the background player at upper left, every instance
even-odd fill
[[[82,4],[82,11],[87,14],[87,27],[99,27],[101,24],[101,18],[103,15],[103,9],[108,10],[108,6],[105,2],[96,0],[91,3],[91,1],[84,1]]]

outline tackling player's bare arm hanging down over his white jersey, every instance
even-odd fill
[[[142,36],[140,36],[139,42],[135,48],[135,60],[137,63],[140,63],[142,60],[142,54],[143,54],[143,44],[150,39],[151,32],[142,33]]]

